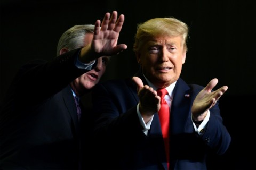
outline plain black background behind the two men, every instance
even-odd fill
[[[118,43],[128,48],[111,58],[101,81],[133,75],[132,52],[137,23],[174,16],[189,25],[186,63],[181,78],[206,86],[229,87],[220,99],[223,123],[232,142],[225,155],[209,159],[209,169],[252,169],[255,147],[256,7],[254,1],[82,1],[1,0],[0,96],[6,95],[15,73],[34,58],[51,60],[64,31],[76,24],[94,24],[106,12],[125,15]]]

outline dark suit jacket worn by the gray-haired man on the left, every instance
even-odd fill
[[[24,65],[1,106],[0,169],[78,169],[79,122],[69,83],[78,50]],[[82,117],[81,117],[82,119]]]

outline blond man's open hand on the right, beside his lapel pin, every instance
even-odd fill
[[[222,86],[218,90],[212,91],[217,85],[218,79],[212,79],[207,86],[196,96],[191,111],[195,121],[201,121],[206,116],[206,111],[212,108],[218,99],[227,91],[227,86]]]

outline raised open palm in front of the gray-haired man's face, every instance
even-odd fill
[[[84,63],[93,61],[101,56],[111,56],[122,52],[127,48],[125,44],[117,45],[119,33],[124,23],[124,15],[117,18],[117,11],[112,15],[106,13],[102,23],[95,22],[93,40],[90,45],[82,48],[80,60]]]

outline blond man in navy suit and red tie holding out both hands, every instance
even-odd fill
[[[180,78],[187,37],[187,24],[175,18],[139,24],[133,46],[140,64],[137,74],[95,86],[99,169],[206,169],[209,152],[228,149],[231,138],[218,107],[228,87],[213,91],[218,79],[202,87]],[[158,89],[167,90],[164,99]],[[167,102],[167,118],[160,114],[160,100]]]

